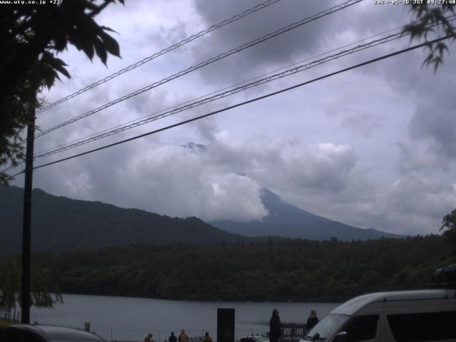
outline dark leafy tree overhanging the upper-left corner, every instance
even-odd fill
[[[69,44],[90,60],[120,57],[108,27],[95,22],[106,6],[124,0],[66,0],[60,4],[4,5],[0,13],[0,167],[24,159],[21,132],[39,107],[39,92],[51,88],[59,73],[71,78],[56,54]],[[0,172],[0,183],[7,183]]]

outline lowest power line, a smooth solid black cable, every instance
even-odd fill
[[[271,97],[271,96],[278,95],[278,94],[280,94],[280,93],[284,93],[284,92],[289,91],[289,90],[292,90],[292,89],[294,89],[294,88],[299,88],[299,87],[301,87],[301,86],[306,86],[306,85],[309,84],[309,83],[314,83],[314,82],[316,82],[316,81],[323,80],[324,78],[328,78],[328,77],[331,77],[331,76],[335,76],[335,75],[337,75],[337,74],[339,74],[339,73],[344,73],[344,72],[346,72],[346,71],[350,71],[350,70],[353,70],[353,69],[355,69],[355,68],[359,68],[359,67],[361,67],[361,66],[366,66],[366,65],[371,64],[371,63],[375,63],[375,62],[378,62],[378,61],[382,61],[383,59],[390,58],[390,57],[393,57],[393,56],[397,56],[397,55],[399,55],[399,54],[401,54],[401,53],[405,53],[405,52],[408,52],[408,51],[412,51],[412,50],[415,50],[416,48],[421,48],[421,47],[423,47],[423,46],[427,46],[427,45],[429,45],[430,43],[437,43],[438,41],[443,41],[443,40],[445,40],[445,39],[447,39],[447,38],[451,38],[451,37],[452,37],[451,35],[447,35],[447,36],[444,36],[444,37],[441,37],[441,38],[434,39],[434,40],[432,40],[432,41],[426,41],[426,42],[424,42],[424,43],[420,43],[420,44],[418,44],[418,45],[411,46],[411,47],[409,47],[409,48],[404,48],[403,50],[396,51],[396,52],[394,52],[394,53],[388,53],[387,55],[383,55],[383,56],[380,56],[380,57],[378,57],[378,58],[373,58],[373,59],[371,59],[371,60],[369,60],[369,61],[366,61],[366,62],[363,62],[363,63],[356,64],[355,66],[351,66],[351,67],[348,67],[348,68],[344,68],[344,69],[341,69],[341,70],[339,70],[339,71],[335,71],[335,72],[333,72],[333,73],[328,73],[328,74],[326,74],[325,76],[320,76],[320,77],[314,78],[314,79],[312,79],[312,80],[310,80],[310,81],[306,81],[306,82],[303,82],[303,83],[296,84],[295,86],[291,86],[291,87],[289,87],[289,88],[284,88],[284,89],[281,89],[281,90],[277,90],[277,91],[275,91],[275,92],[273,92],[273,93],[269,93],[269,94],[266,94],[266,95],[259,96],[259,97],[257,97],[257,98],[253,98],[252,100],[247,100],[247,101],[244,101],[244,102],[242,102],[242,103],[237,103],[236,105],[231,105],[231,106],[226,107],[226,108],[222,108],[222,109],[219,109],[219,110],[214,110],[214,111],[211,112],[211,113],[207,113],[207,114],[204,114],[204,115],[200,115],[200,116],[197,116],[196,118],[192,118],[192,119],[189,119],[189,120],[184,120],[184,121],[181,121],[180,123],[175,123],[174,125],[166,126],[165,128],[160,128],[160,129],[157,129],[157,130],[152,130],[152,131],[150,131],[150,132],[148,132],[148,133],[144,133],[144,134],[141,134],[141,135],[137,135],[137,136],[135,136],[135,137],[133,137],[133,138],[128,138],[128,139],[125,139],[125,140],[121,140],[121,141],[118,141],[118,142],[114,142],[114,143],[109,144],[109,145],[105,145],[105,146],[102,146],[102,147],[95,148],[95,149],[93,149],[93,150],[88,150],[88,151],[86,151],[86,152],[82,152],[82,153],[79,153],[79,154],[77,154],[77,155],[72,155],[72,156],[70,156],[70,157],[62,158],[62,159],[60,159],[60,160],[55,160],[55,161],[53,161],[53,162],[48,162],[48,163],[43,164],[43,165],[38,165],[38,166],[36,166],[36,167],[33,167],[33,170],[39,169],[39,168],[41,168],[41,167],[46,167],[46,166],[49,166],[49,165],[57,164],[57,163],[59,163],[59,162],[64,162],[64,161],[66,161],[66,160],[71,160],[71,159],[73,159],[73,158],[81,157],[81,156],[83,156],[83,155],[88,155],[88,154],[93,153],[93,152],[97,152],[97,151],[100,151],[100,150],[104,150],[104,149],[106,149],[106,148],[108,148],[108,147],[113,147],[113,146],[116,146],[116,145],[123,144],[123,143],[125,143],[125,142],[129,142],[129,141],[132,141],[132,140],[136,140],[136,139],[139,139],[139,138],[143,138],[143,137],[145,137],[145,136],[147,136],[147,135],[152,135],[152,134],[155,134],[155,133],[160,133],[160,132],[162,132],[162,131],[164,131],[164,130],[169,130],[170,128],[175,128],[175,127],[177,127],[177,126],[185,125],[185,124],[187,124],[187,123],[191,123],[191,122],[193,122],[193,121],[200,120],[200,119],[202,119],[202,118],[207,118],[207,117],[212,116],[212,115],[215,115],[215,114],[217,114],[217,113],[222,113],[222,112],[224,112],[224,111],[227,111],[227,110],[230,110],[230,109],[233,109],[233,108],[237,108],[237,107],[240,107],[240,106],[242,106],[242,105],[247,105],[248,103],[253,103],[253,102],[256,102],[256,101],[258,101],[258,100],[264,100],[265,98],[269,98],[269,97]],[[20,175],[21,173],[24,173],[24,172],[19,172],[19,173],[17,173],[16,175],[11,176],[11,177],[9,177],[9,178],[16,177],[17,175]],[[9,179],[9,178],[8,178],[8,179]]]

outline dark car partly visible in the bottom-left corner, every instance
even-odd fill
[[[66,326],[15,324],[4,331],[8,342],[95,342],[105,341],[95,333]]]

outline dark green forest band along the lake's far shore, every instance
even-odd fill
[[[420,289],[436,268],[455,262],[455,248],[440,236],[33,255],[33,269],[49,274],[63,293],[211,301],[344,301],[372,291]]]

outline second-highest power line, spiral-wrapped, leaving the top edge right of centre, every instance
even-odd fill
[[[308,17],[306,19],[302,19],[301,21],[297,21],[296,23],[293,23],[293,24],[291,24],[289,26],[286,26],[284,28],[280,28],[279,30],[276,30],[276,31],[274,31],[272,33],[268,33],[265,36],[262,36],[260,38],[254,39],[253,41],[250,41],[249,43],[244,43],[242,46],[238,46],[237,48],[232,48],[231,50],[229,50],[229,51],[227,51],[225,53],[221,53],[221,54],[219,54],[216,57],[209,58],[206,61],[198,63],[195,66],[191,66],[190,68],[187,68],[187,69],[185,69],[183,71],[180,71],[179,73],[175,73],[172,76],[168,76],[167,78],[163,78],[162,80],[154,82],[154,83],[150,84],[149,86],[146,86],[146,87],[141,88],[139,90],[136,90],[133,93],[130,93],[130,94],[127,94],[127,95],[123,95],[121,98],[116,98],[115,100],[110,101],[109,103],[105,103],[105,105],[101,105],[98,108],[95,108],[93,110],[89,110],[86,113],[83,113],[81,115],[76,116],[75,118],[67,120],[67,121],[65,121],[63,123],[60,123],[60,124],[56,125],[56,126],[53,126],[52,128],[48,128],[47,130],[44,130],[43,132],[38,133],[37,135],[35,135],[35,138],[41,137],[42,135],[50,133],[53,130],[56,130],[56,129],[61,128],[63,126],[66,126],[66,125],[69,125],[71,123],[74,123],[74,122],[76,122],[78,120],[81,120],[83,118],[88,117],[89,115],[93,115],[95,113],[98,113],[100,110],[108,108],[111,105],[115,105],[115,104],[120,103],[120,102],[122,102],[124,100],[127,100],[128,98],[132,98],[133,96],[139,95],[140,93],[144,93],[147,90],[150,90],[152,88],[156,88],[157,86],[161,86],[164,83],[172,81],[175,78],[179,78],[181,76],[184,76],[187,73],[190,73],[190,72],[195,71],[195,70],[197,70],[199,68],[202,68],[203,66],[207,66],[210,63],[214,63],[215,61],[219,61],[222,58],[226,58],[227,56],[231,56],[234,53],[242,51],[242,50],[244,50],[246,48],[250,48],[250,47],[252,47],[254,45],[257,45],[258,43],[266,41],[266,40],[268,40],[270,38],[274,38],[275,36],[279,36],[282,33],[286,33],[288,31],[291,31],[294,28],[297,28],[297,27],[302,26],[304,24],[308,24],[309,22],[315,21],[315,20],[317,20],[319,18],[322,18],[323,16],[328,16],[329,14],[332,14],[332,13],[334,13],[336,11],[340,11],[341,9],[345,9],[348,6],[352,6],[352,5],[357,4],[358,2],[361,2],[361,1],[363,1],[363,0],[348,0],[348,1],[344,2],[343,4],[338,4],[336,6],[331,7],[330,9],[327,9],[326,11],[318,12],[314,16],[310,16],[310,17]]]

